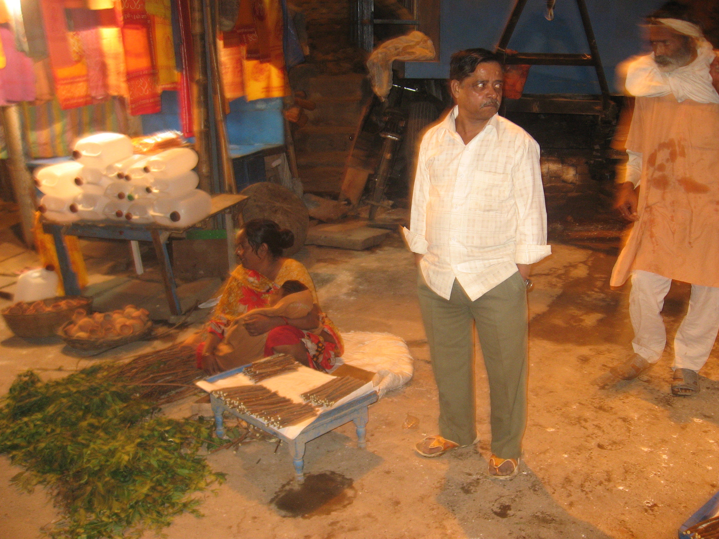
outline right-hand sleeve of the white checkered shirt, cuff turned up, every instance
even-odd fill
[[[533,264],[551,254],[546,244],[546,208],[539,167],[539,144],[524,139],[512,170],[517,206],[516,264]]]

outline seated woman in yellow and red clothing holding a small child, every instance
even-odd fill
[[[321,312],[309,273],[282,256],[293,243],[291,231],[267,219],[248,221],[239,231],[240,265],[226,282],[206,331],[188,341],[201,340],[198,367],[215,374],[283,353],[327,371],[342,356],[342,339]]]

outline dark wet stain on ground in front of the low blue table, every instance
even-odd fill
[[[294,479],[283,484],[270,503],[283,517],[311,518],[344,509],[354,502],[356,495],[352,479],[334,471],[323,471],[307,474],[301,485]]]

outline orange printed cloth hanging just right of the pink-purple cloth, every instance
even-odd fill
[[[55,96],[60,106],[73,109],[92,103],[83,47],[78,36],[68,32],[63,0],[41,0],[41,7]]]

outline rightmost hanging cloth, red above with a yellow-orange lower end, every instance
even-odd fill
[[[247,101],[270,97],[284,97],[289,94],[289,82],[285,71],[285,57],[283,51],[283,17],[280,0],[257,0],[262,2],[265,19],[262,21],[265,29],[258,34],[267,36],[267,48],[270,51],[270,61],[262,62],[247,57],[243,62],[242,76],[244,78],[244,95]],[[242,11],[242,2],[240,2]],[[259,20],[259,19],[257,19]]]

